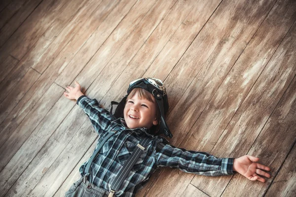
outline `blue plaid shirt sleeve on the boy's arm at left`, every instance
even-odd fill
[[[108,110],[99,106],[96,99],[89,99],[83,95],[77,99],[77,105],[84,110],[99,135],[107,130],[114,119],[114,116]]]

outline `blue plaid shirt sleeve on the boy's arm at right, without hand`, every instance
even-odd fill
[[[216,158],[205,152],[187,151],[163,143],[157,145],[155,153],[158,167],[169,166],[204,176],[233,174],[233,160],[234,158]]]

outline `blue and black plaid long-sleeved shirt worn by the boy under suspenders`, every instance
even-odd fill
[[[150,142],[137,160],[127,178],[115,196],[135,196],[138,189],[148,182],[150,175],[161,166],[179,168],[182,171],[217,176],[233,174],[233,158],[216,158],[204,152],[186,151],[176,148],[161,136],[149,134],[146,128],[127,129],[122,118],[116,119],[109,111],[99,106],[96,99],[81,96],[77,104],[89,117],[95,131],[99,134],[98,145],[109,131],[117,131],[103,145],[97,158],[94,159],[88,180],[107,191],[111,190],[111,182],[116,177],[125,161],[129,158],[140,139],[150,137]],[[97,149],[96,147],[96,149]],[[95,149],[95,150],[96,150]],[[80,166],[80,174],[88,159]]]

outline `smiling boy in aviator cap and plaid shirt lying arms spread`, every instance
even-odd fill
[[[164,133],[172,137],[164,120],[168,111],[167,94],[159,79],[141,78],[131,82],[127,95],[117,103],[114,115],[99,107],[96,99],[84,96],[76,81],[75,85],[75,88],[68,86],[66,90],[69,93],[64,95],[77,100],[100,138],[92,157],[79,169],[82,177],[66,196],[135,196],[160,166],[206,176],[228,175],[237,171],[250,180],[261,182],[265,179],[259,175],[270,177],[263,171],[270,168],[256,163],[259,158],[245,155],[238,159],[219,159],[204,152],[176,148],[159,136]],[[143,139],[147,141],[146,147],[141,146]],[[127,168],[136,147],[145,151],[138,154],[140,156],[135,164],[131,164],[128,175],[121,177],[122,182],[115,184],[114,189],[114,182],[118,182],[122,170]]]

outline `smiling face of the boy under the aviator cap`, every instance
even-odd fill
[[[151,95],[153,102],[147,99],[140,99],[136,93],[131,99],[126,101],[124,107],[124,120],[129,129],[147,128],[157,125],[156,120],[156,100]]]

